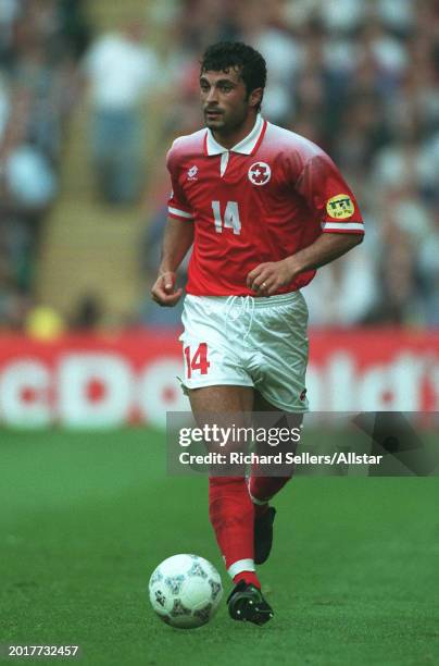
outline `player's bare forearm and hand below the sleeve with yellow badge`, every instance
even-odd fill
[[[363,234],[324,233],[314,243],[281,261],[260,263],[247,276],[247,286],[272,296],[299,273],[321,268],[338,259],[363,240]],[[264,285],[264,286],[262,286]]]

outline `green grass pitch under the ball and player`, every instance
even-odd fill
[[[438,478],[297,478],[260,568],[274,620],[223,604],[184,631],[149,606],[159,562],[197,553],[230,582],[206,478],[166,476],[163,435],[1,430],[0,464],[0,643],[79,644],[92,666],[439,663]]]

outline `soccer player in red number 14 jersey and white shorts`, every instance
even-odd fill
[[[308,409],[308,309],[301,288],[316,269],[363,238],[358,203],[330,158],[260,113],[266,66],[241,42],[205,51],[206,127],[167,156],[173,192],[153,299],[175,306],[176,271],[192,247],[183,313],[185,386],[205,414]],[[242,416],[242,424],[246,420]],[[239,421],[236,423],[239,424]],[[211,476],[210,519],[235,588],[230,616],[273,617],[255,564],[268,557],[288,477]]]

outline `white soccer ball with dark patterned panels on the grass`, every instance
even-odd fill
[[[192,629],[215,615],[223,585],[217,570],[199,555],[173,555],[152,572],[149,597],[167,625]]]

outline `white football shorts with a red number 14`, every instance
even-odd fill
[[[188,294],[181,320],[184,387],[254,386],[278,409],[308,410],[308,307],[300,292]]]

